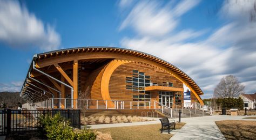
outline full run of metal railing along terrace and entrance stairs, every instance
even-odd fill
[[[194,111],[202,110],[206,112],[213,112],[213,109],[208,106],[203,106],[198,102],[191,102],[187,104],[174,105],[173,109],[169,106],[165,106],[157,101],[124,101],[124,100],[93,100],[93,99],[69,99],[69,98],[49,98],[47,100],[36,102],[32,105],[31,109],[50,109],[50,108],[63,108],[70,109],[72,108],[72,102],[75,102],[76,109],[170,109],[170,114],[172,116],[173,110],[178,112],[181,110],[181,113],[184,114],[184,109]],[[24,108],[23,107],[23,108]]]

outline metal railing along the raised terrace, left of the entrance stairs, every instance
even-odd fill
[[[154,101],[122,101],[122,100],[93,100],[93,99],[68,99],[49,98],[44,101],[35,102],[31,105],[35,108],[72,108],[72,101],[76,102],[76,109],[156,109]],[[60,105],[59,105],[60,104]],[[29,104],[24,104],[23,108],[28,108]]]

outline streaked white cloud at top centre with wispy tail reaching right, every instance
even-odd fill
[[[176,8],[171,9],[171,3],[162,8],[163,4],[157,1],[139,2],[123,21],[119,30],[130,26],[139,35],[163,36],[177,27],[177,17],[189,11],[198,3],[199,1],[183,1]],[[181,9],[180,6],[183,8]]]

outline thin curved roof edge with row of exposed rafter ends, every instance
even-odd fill
[[[197,85],[194,80],[188,76],[185,72],[174,66],[173,64],[164,61],[156,56],[143,53],[141,51],[131,50],[131,49],[125,49],[125,48],[115,48],[115,47],[80,47],[80,48],[69,48],[69,49],[60,49],[55,51],[49,51],[46,53],[37,54],[34,56],[33,60],[40,63],[42,61],[46,62],[52,58],[57,58],[59,56],[69,56],[74,54],[89,54],[89,53],[111,53],[111,54],[122,54],[122,55],[130,55],[130,56],[136,56],[139,58],[143,58],[145,60],[150,60],[152,62],[155,62],[159,65],[162,65],[163,67],[171,70],[172,72],[176,73],[180,78],[184,79],[192,88],[193,90],[199,94],[204,94],[203,91],[200,89],[200,87]],[[68,60],[63,60],[68,61]],[[61,62],[60,62],[61,63]],[[41,63],[40,67],[45,67],[49,64],[43,64]]]

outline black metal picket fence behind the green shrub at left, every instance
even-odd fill
[[[60,113],[69,120],[70,126],[80,129],[80,110],[76,109],[51,109],[51,110],[14,110],[0,109],[0,135],[12,132],[37,131],[41,127],[38,119],[41,115],[54,116]]]

